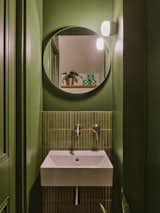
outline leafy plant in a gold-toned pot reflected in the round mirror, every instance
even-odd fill
[[[69,73],[64,72],[62,73],[62,75],[62,82],[65,82],[67,86],[75,85],[75,83],[78,83],[78,78],[82,79],[82,76],[74,70],[71,70]]]

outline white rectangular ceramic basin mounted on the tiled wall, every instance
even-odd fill
[[[42,186],[112,186],[113,180],[105,151],[50,151],[40,173]]]

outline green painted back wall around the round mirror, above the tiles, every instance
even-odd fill
[[[112,0],[44,0],[43,38],[54,30],[78,25],[100,31],[103,20],[112,18]],[[112,110],[112,76],[97,91],[73,97],[53,87],[44,75],[44,110]]]

